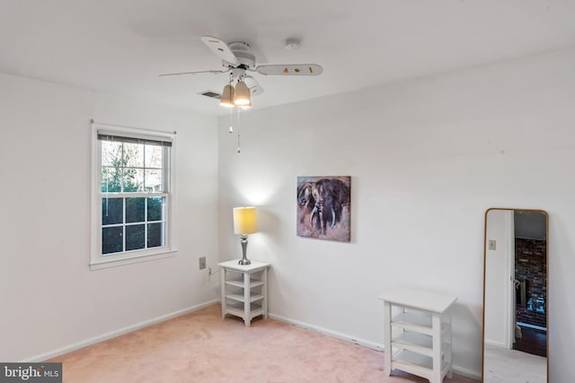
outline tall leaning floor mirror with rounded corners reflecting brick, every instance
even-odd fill
[[[548,215],[492,208],[483,250],[483,382],[547,382]]]

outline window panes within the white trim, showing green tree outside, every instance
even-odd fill
[[[165,245],[169,146],[99,135],[102,255]]]

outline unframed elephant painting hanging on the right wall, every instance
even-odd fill
[[[351,177],[298,177],[296,234],[349,242]]]

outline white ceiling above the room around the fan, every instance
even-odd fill
[[[201,35],[249,43],[258,65],[323,66],[252,74],[260,109],[575,47],[574,20],[572,0],[0,0],[0,72],[218,116],[197,93],[226,74],[158,77],[223,69]]]

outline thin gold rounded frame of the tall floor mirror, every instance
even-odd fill
[[[546,288],[546,295],[547,295],[547,310],[545,312],[545,320],[547,322],[547,336],[545,338],[545,347],[547,351],[546,359],[546,379],[547,383],[549,383],[549,213],[545,212],[541,209],[520,209],[516,207],[490,207],[485,211],[483,217],[483,316],[482,316],[482,382],[484,381],[484,373],[485,370],[485,272],[487,266],[487,214],[491,212],[491,210],[507,210],[512,212],[531,212],[531,213],[542,213],[545,216],[545,274],[547,278],[545,279],[545,288]]]

